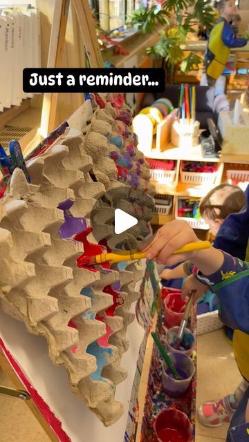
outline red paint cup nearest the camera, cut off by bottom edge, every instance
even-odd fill
[[[176,408],[165,408],[154,422],[158,442],[192,442],[192,427],[187,414]]]

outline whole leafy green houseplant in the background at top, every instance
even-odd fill
[[[169,24],[169,17],[174,25],[168,30],[161,30],[158,41],[147,53],[154,55],[156,59],[162,59],[162,66],[173,81],[174,68],[181,66],[183,73],[190,70],[198,70],[202,59],[199,55],[190,52],[184,57],[181,45],[185,44],[187,35],[195,33],[197,26],[205,26],[210,32],[215,22],[214,11],[210,6],[211,0],[165,0],[158,12],[154,6],[149,10],[140,8],[133,12],[129,23],[141,30],[142,33],[156,32],[156,24]]]

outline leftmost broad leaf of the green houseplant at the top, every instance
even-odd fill
[[[166,10],[158,10],[156,6],[152,6],[151,8],[142,7],[133,10],[131,15],[127,16],[126,23],[140,30],[142,34],[151,34],[151,32],[154,32],[158,23],[160,25],[168,24],[168,17],[169,12]]]

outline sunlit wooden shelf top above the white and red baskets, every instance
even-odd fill
[[[162,146],[161,151],[152,149],[150,153],[145,153],[145,157],[154,160],[185,160],[185,161],[205,161],[211,163],[245,163],[249,162],[249,155],[222,155],[219,158],[204,158],[201,154],[201,144],[190,149],[174,147],[172,144]]]

